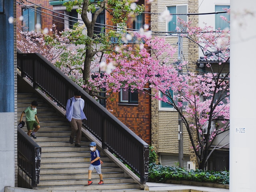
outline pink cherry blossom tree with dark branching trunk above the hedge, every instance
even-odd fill
[[[173,58],[176,50],[164,38],[136,34],[144,43],[139,48],[126,47],[107,54],[108,63],[103,66],[116,68],[103,77],[94,74],[97,77],[91,81],[109,92],[118,92],[121,88],[143,91],[145,84],[150,83],[154,90],[152,96],[172,105],[180,114],[199,168],[204,169],[212,152],[225,146],[210,150],[216,136],[229,128],[229,31],[214,32],[208,26],[199,28],[190,26],[189,22],[183,24],[188,32],[183,36],[200,47],[208,72],[199,74],[184,70],[186,73],[181,73],[188,62],[177,64]],[[214,70],[211,60],[218,65],[218,71]]]

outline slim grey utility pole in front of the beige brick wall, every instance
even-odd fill
[[[178,61],[182,62],[182,36],[178,36]],[[181,71],[182,72],[182,71]],[[182,102],[182,100],[179,100]],[[179,112],[179,125],[178,125],[178,140],[179,140],[179,167],[183,168],[183,122],[180,113],[182,114],[183,107],[180,108]]]

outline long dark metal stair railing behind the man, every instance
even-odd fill
[[[86,102],[84,112],[88,119],[83,121],[84,128],[102,142],[104,149],[115,153],[140,175],[142,184],[146,183],[148,180],[149,146],[144,140],[42,55],[22,54],[18,51],[17,57],[17,66],[22,77],[29,78],[34,88],[39,87],[60,107],[65,108],[67,100],[74,96],[76,90],[80,90],[82,98]]]

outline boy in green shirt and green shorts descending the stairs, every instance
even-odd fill
[[[39,120],[36,116],[38,106],[37,101],[32,101],[31,105],[27,107],[24,112],[22,112],[20,116],[20,122],[22,122],[23,115],[26,114],[26,124],[28,129],[28,136],[32,136],[34,139],[36,139],[35,133],[40,129]],[[35,129],[34,129],[35,128]],[[34,131],[32,132],[32,130]],[[32,132],[32,133],[31,133]]]

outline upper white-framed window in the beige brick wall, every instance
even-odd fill
[[[186,5],[168,6],[167,9],[171,14],[187,14]],[[187,15],[172,15],[172,20],[168,23],[168,31],[176,31],[177,26],[181,30],[184,28],[184,26],[178,22],[178,17],[184,21],[187,21]]]

